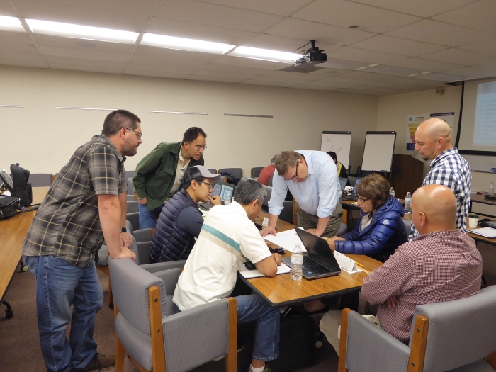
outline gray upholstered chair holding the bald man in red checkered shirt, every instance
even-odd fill
[[[410,347],[357,312],[342,312],[338,371],[496,371],[496,286],[415,308]]]

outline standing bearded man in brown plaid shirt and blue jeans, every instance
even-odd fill
[[[57,174],[24,240],[23,259],[36,276],[38,330],[47,371],[86,372],[115,363],[115,356],[96,352],[93,339],[96,312],[103,305],[95,254],[105,238],[114,259],[136,257],[125,231],[124,162],[136,154],[141,135],[135,114],[108,114],[101,135],[79,147]]]

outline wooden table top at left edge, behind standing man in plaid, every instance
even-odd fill
[[[33,204],[43,201],[50,187],[33,187]],[[21,259],[21,247],[36,211],[21,213],[0,221],[0,299],[4,298]]]

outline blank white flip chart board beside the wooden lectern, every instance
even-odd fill
[[[367,132],[361,170],[390,171],[395,142],[396,132]]]

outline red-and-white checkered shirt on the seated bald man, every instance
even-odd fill
[[[407,344],[415,306],[475,295],[480,291],[483,260],[475,242],[460,230],[421,235],[398,247],[361,288],[373,305],[383,329]],[[398,305],[388,308],[388,298]]]

